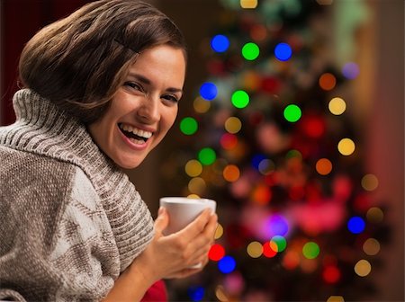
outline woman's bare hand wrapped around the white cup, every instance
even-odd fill
[[[162,232],[168,221],[166,209],[159,209],[154,239],[131,264],[152,283],[163,278],[183,278],[201,271],[208,262],[208,252],[214,241],[217,215],[211,214],[210,209],[205,209],[181,231],[165,236]],[[190,268],[196,264],[201,266]]]

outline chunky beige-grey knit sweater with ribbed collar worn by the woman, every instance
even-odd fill
[[[14,111],[0,128],[0,300],[99,301],[152,239],[148,207],[85,125],[29,89]]]

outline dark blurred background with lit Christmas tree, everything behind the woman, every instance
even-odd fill
[[[85,0],[2,0],[0,123],[23,44]],[[171,301],[404,301],[404,2],[156,0],[190,60],[166,140],[126,171],[217,200],[210,263]],[[13,175],[10,175],[13,177]]]

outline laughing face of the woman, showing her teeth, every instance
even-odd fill
[[[140,53],[111,107],[89,125],[95,143],[122,168],[137,167],[175,122],[182,97],[182,49],[161,45]]]

